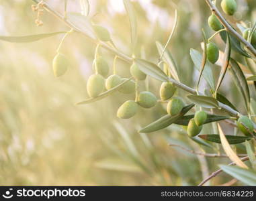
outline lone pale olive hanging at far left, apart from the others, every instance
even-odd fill
[[[54,76],[59,77],[65,74],[69,68],[69,60],[64,54],[56,54],[52,60],[52,69]]]

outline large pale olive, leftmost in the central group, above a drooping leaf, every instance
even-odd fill
[[[87,92],[90,97],[98,96],[104,89],[105,80],[100,74],[92,74],[87,81]]]

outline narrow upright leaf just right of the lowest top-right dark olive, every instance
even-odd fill
[[[224,62],[222,64],[222,68],[220,71],[220,77],[218,78],[218,83],[215,89],[215,94],[217,96],[217,91],[218,88],[220,88],[220,85],[224,79],[224,76],[226,74],[226,70],[228,69],[228,65],[229,65],[229,60],[230,60],[230,54],[231,54],[231,48],[230,48],[230,39],[229,39],[229,35],[226,34],[226,48],[225,48],[225,52],[224,52]]]

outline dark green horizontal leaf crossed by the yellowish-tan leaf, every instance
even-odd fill
[[[207,141],[212,141],[214,143],[221,143],[220,141],[220,135],[217,134],[210,134],[210,135],[198,135],[198,137],[205,139]],[[252,137],[247,136],[237,136],[237,135],[225,135],[226,139],[228,140],[228,143],[230,145],[244,143],[246,140],[251,140]]]

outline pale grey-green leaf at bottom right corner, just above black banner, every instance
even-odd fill
[[[229,174],[233,178],[249,185],[256,186],[256,172],[253,170],[247,170],[237,166],[220,165],[220,168],[226,174]]]

